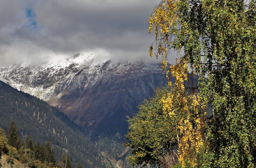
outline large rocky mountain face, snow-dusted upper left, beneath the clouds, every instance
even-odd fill
[[[0,68],[0,80],[59,108],[88,137],[122,138],[125,116],[167,83],[161,64],[96,62],[78,54],[58,63]]]

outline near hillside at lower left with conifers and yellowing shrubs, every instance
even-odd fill
[[[12,121],[7,135],[0,128],[0,167],[4,168],[52,168],[57,167],[56,157],[47,140],[45,145],[34,143],[31,136],[26,141],[20,141],[17,127]],[[67,155],[67,154],[66,154]],[[63,166],[60,166],[63,168]],[[70,166],[65,168],[72,168]]]

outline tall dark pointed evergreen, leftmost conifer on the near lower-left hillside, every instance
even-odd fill
[[[13,121],[11,122],[7,132],[7,141],[9,145],[15,147],[16,149],[20,148],[20,137]]]

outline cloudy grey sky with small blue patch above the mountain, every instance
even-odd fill
[[[148,18],[160,0],[0,0],[0,66],[76,53],[152,60]]]

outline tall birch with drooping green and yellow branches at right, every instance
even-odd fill
[[[186,89],[197,104],[184,109],[188,118],[180,121],[182,167],[256,166],[255,9],[254,0],[162,0],[150,17],[157,46],[150,56],[161,56],[164,69],[170,48],[179,56],[167,76],[176,77],[180,98],[166,97],[166,111],[176,113],[173,102],[185,102]],[[192,87],[185,84],[189,72],[199,76]],[[210,120],[207,106],[213,109]]]

